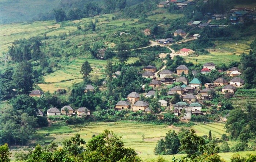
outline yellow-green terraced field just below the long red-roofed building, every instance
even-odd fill
[[[198,57],[184,56],[184,58],[185,60],[191,61],[194,64],[198,64],[200,66],[207,62],[213,62],[215,65],[221,65],[223,63],[228,65],[231,61],[240,60],[239,55],[233,55],[231,52],[210,51],[210,53],[210,55],[199,55]]]

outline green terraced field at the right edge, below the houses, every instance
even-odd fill
[[[235,108],[246,108],[246,104],[250,103],[255,105],[256,103],[256,89],[239,89],[235,93],[235,97],[231,98],[230,101],[233,103]]]

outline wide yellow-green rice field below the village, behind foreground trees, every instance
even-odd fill
[[[215,136],[219,136],[225,132],[223,124],[218,123],[198,124],[192,128],[199,135],[208,135],[209,130]],[[140,156],[146,158],[148,155],[154,155],[153,151],[157,141],[165,136],[170,127],[166,125],[140,124],[125,121],[113,123],[91,122],[74,126],[46,127],[39,130],[38,134],[44,135],[49,133],[49,136],[46,136],[47,139],[52,138],[54,142],[61,143],[64,139],[70,138],[70,136],[78,133],[87,142],[93,135],[97,135],[106,129],[113,131],[118,136],[122,136],[126,147],[135,149]],[[179,127],[174,127],[176,132],[179,129]],[[144,141],[142,141],[143,134],[145,135]],[[44,138],[39,139],[37,142],[44,142]]]

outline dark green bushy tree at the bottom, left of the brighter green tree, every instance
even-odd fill
[[[154,149],[156,155],[172,155],[178,153],[180,147],[180,140],[174,130],[169,130],[166,133],[165,140],[161,139],[157,142]]]

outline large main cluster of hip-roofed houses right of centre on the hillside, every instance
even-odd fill
[[[183,82],[182,86],[174,86],[173,88],[170,88],[167,92],[168,95],[172,96],[174,94],[180,95],[182,102],[178,102],[173,105],[173,113],[176,116],[181,116],[183,119],[191,119],[191,115],[203,115],[204,112],[201,111],[202,104],[199,102],[202,102],[202,100],[209,100],[211,99],[210,91],[213,90],[217,86],[223,86],[221,88],[222,93],[234,93],[237,90],[238,86],[242,86],[244,84],[244,80],[240,77],[234,77],[232,80],[227,81],[224,78],[220,77],[216,79],[213,83],[206,83],[204,84],[204,89],[202,89],[202,82],[198,78],[193,78],[190,82],[188,79],[184,76],[180,76],[182,73],[188,74],[189,69],[185,65],[180,65],[177,67],[177,73],[174,73],[170,70],[162,70],[159,73],[159,79],[156,80],[155,78],[155,72],[157,71],[157,68],[151,65],[148,65],[143,68],[145,72],[142,74],[145,78],[152,78],[153,80],[149,83],[149,86],[151,86],[153,89],[158,89],[162,86],[162,83],[173,83],[175,81],[177,82]],[[203,66],[203,69],[201,70],[202,73],[205,72],[211,72],[212,70],[215,70],[215,64],[214,63],[205,63]],[[230,74],[230,76],[233,74],[237,74],[238,68],[232,67],[229,70],[227,70],[227,74]],[[236,76],[235,75],[235,76]],[[176,77],[178,76],[178,78]],[[142,87],[144,88],[144,87]],[[155,90],[150,90],[146,94],[144,94],[145,97],[154,97],[156,96]],[[168,101],[165,100],[159,100],[158,101],[162,107],[165,107],[166,109],[172,109],[170,107],[170,104],[168,105]],[[140,94],[137,92],[131,92],[127,96],[127,101],[119,101],[116,104],[116,110],[122,110],[122,109],[132,109],[132,111],[144,111],[144,112],[151,112],[151,109],[149,107],[149,104],[146,101],[140,100]]]

